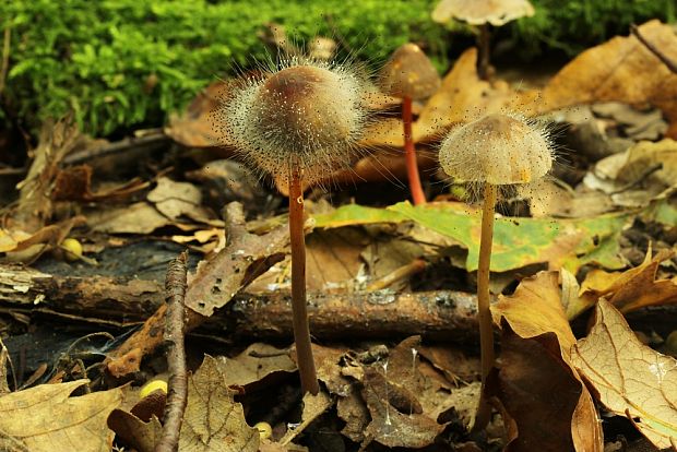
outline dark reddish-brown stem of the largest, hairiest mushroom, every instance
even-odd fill
[[[292,242],[292,316],[296,360],[301,390],[316,395],[320,391],[310,347],[310,328],[306,307],[306,237],[304,235],[304,191],[298,167],[289,175],[289,239]]]

